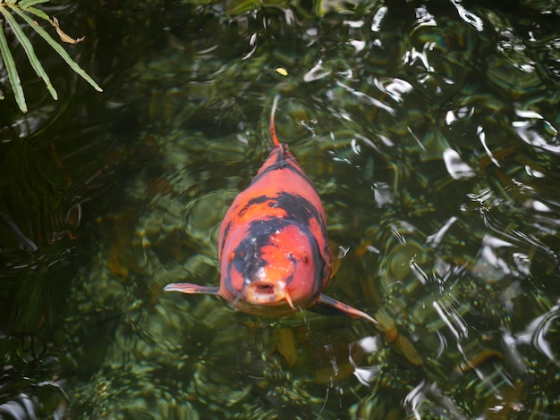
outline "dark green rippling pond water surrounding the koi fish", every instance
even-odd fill
[[[1,80],[0,417],[560,417],[557,4],[55,12],[105,93],[47,58],[61,100],[23,66],[22,116]],[[276,95],[344,256],[327,294],[402,339],[162,291],[217,285]]]

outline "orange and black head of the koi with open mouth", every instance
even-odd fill
[[[257,221],[231,232],[220,256],[220,295],[253,315],[288,315],[320,296],[325,262],[305,226]]]

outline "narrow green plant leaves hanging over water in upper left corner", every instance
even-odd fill
[[[21,29],[21,23],[16,21],[16,16],[19,16],[21,20],[25,21],[30,26],[30,28],[38,33],[41,38],[45,39],[48,45],[51,46],[55,50],[55,52],[64,59],[64,61],[70,66],[73,71],[78,73],[83,79],[87,80],[88,83],[96,90],[102,92],[103,89],[99,88],[95,80],[91,79],[88,73],[86,73],[86,71],[84,71],[78,65],[78,63],[72,60],[70,55],[68,55],[68,53],[64,50],[63,46],[61,46],[54,38],[52,38],[45,29],[41,28],[41,26],[38,24],[38,21],[35,21],[31,18],[31,16],[34,16],[42,21],[47,21],[49,24],[55,27],[58,36],[63,42],[71,44],[77,44],[78,42],[81,42],[83,38],[74,39],[66,35],[64,31],[60,29],[56,18],[51,19],[47,16],[46,13],[34,7],[36,4],[47,3],[48,1],[49,0],[21,0],[20,2],[18,2],[17,0],[0,0],[0,13],[2,15],[3,21],[8,23],[10,29],[12,29],[13,31],[13,35],[21,43],[25,54],[30,60],[31,67],[33,67],[33,70],[37,73],[37,75],[45,81],[47,90],[51,94],[51,97],[53,97],[53,99],[56,100],[58,98],[58,94],[56,93],[55,88],[48,78],[47,72],[38,60],[33,45],[31,44],[30,38],[28,38],[23,29]],[[25,113],[27,112],[25,95],[23,94],[20,75],[16,68],[12,51],[10,50],[10,46],[8,46],[8,41],[4,34],[5,29],[5,25],[3,25],[2,30],[0,30],[0,54],[2,55],[6,71],[8,72],[8,79],[10,80],[10,84],[12,85],[15,101],[20,107],[21,112]]]

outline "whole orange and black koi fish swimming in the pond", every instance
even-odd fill
[[[220,286],[172,283],[167,291],[210,294],[252,315],[284,316],[322,305],[378,323],[322,294],[332,266],[327,219],[317,189],[276,136],[275,97],[269,131],[274,148],[220,226]]]

